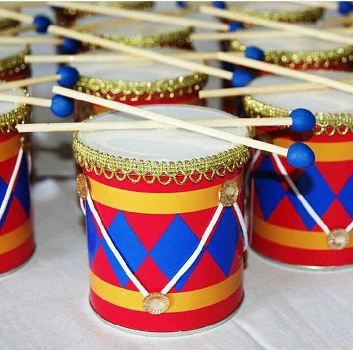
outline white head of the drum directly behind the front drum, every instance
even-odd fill
[[[165,54],[182,52],[182,49],[156,48],[148,49]],[[119,52],[107,50],[89,51],[87,54],[116,55]],[[115,61],[115,62],[82,62],[72,63],[81,76],[91,77],[101,80],[122,80],[122,81],[156,81],[156,80],[174,80],[181,76],[190,75],[187,69],[172,67],[163,63],[150,60]]]

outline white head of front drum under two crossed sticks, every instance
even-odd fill
[[[183,120],[235,118],[231,114],[216,109],[187,105],[161,104],[144,106],[143,109]],[[131,120],[143,119],[121,112],[107,112],[85,123]],[[241,136],[246,136],[248,132],[246,128],[222,128],[222,130]],[[158,162],[212,156],[237,146],[183,129],[78,132],[77,138],[86,146],[102,153]]]

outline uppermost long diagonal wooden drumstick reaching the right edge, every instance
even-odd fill
[[[278,30],[291,31],[291,32],[295,32],[298,34],[310,36],[321,40],[333,41],[334,43],[339,42],[346,45],[353,44],[353,38],[350,38],[348,36],[344,36],[337,33],[329,33],[316,28],[305,27],[303,25],[265,20],[259,17],[249,16],[249,15],[237,13],[235,11],[220,10],[215,7],[205,6],[205,5],[200,6],[200,12],[204,14],[220,17],[220,18],[226,18],[232,21],[250,23],[252,25],[259,25],[262,27],[268,27],[268,28],[273,28]]]

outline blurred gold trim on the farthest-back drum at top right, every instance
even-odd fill
[[[250,16],[260,17],[265,20],[297,23],[297,22],[316,22],[324,14],[322,7],[308,7],[307,9],[295,11],[251,11],[237,8],[229,8],[229,11],[235,11]]]

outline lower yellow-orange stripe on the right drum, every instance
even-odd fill
[[[330,250],[325,232],[295,230],[270,224],[254,216],[254,231],[258,236],[283,246],[312,250]],[[353,234],[347,248],[353,247]]]

